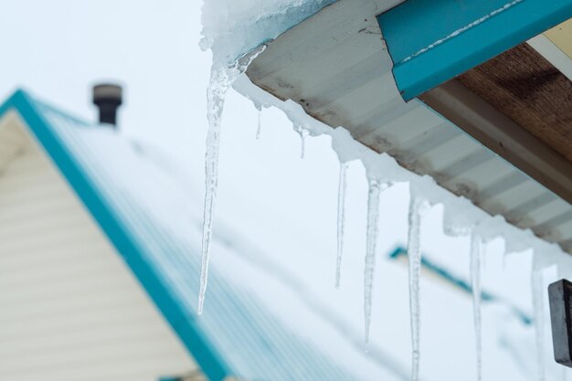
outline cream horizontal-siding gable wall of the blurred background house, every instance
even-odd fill
[[[3,145],[7,136],[16,138]],[[194,370],[19,119],[0,121],[0,380],[151,381]]]

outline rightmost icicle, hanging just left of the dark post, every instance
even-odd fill
[[[536,257],[536,253],[534,256]],[[542,269],[533,259],[533,270],[531,273],[531,283],[533,292],[533,316],[535,318],[535,341],[536,341],[536,364],[538,366],[538,380],[544,381],[545,377],[545,340],[544,340],[544,289]]]

